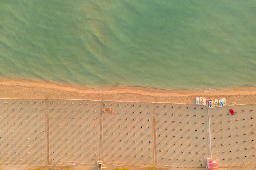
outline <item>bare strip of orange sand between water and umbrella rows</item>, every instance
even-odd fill
[[[70,84],[0,78],[0,98],[85,99],[133,102],[166,102],[195,104],[195,97],[227,99],[227,105],[255,104],[256,86],[209,88],[204,90],[166,90],[147,87],[94,87]]]

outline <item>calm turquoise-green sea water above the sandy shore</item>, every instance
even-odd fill
[[[2,0],[0,77],[168,89],[256,85],[255,0]]]

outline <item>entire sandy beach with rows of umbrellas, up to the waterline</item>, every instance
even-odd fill
[[[197,170],[207,166],[207,158],[220,169],[256,165],[255,87],[85,88],[1,79],[0,90],[1,169],[29,163],[30,169],[76,165],[74,170],[82,170],[103,160],[107,169]],[[196,105],[195,97],[225,97],[227,105],[236,102],[235,115],[230,106]]]

